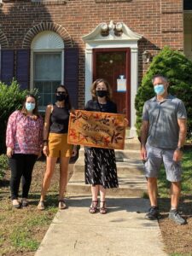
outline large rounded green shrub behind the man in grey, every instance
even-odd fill
[[[135,101],[137,134],[140,135],[144,102],[154,96],[154,86],[151,80],[155,74],[166,76],[170,83],[169,92],[183,101],[188,114],[188,137],[191,137],[192,62],[177,50],[167,46],[160,51],[159,55],[154,57],[137,91]]]

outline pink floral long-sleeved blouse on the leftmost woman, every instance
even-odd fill
[[[26,116],[16,110],[9,116],[6,146],[13,148],[14,154],[39,154],[43,145],[44,121]]]

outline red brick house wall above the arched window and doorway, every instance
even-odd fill
[[[123,21],[131,30],[143,35],[139,42],[140,80],[148,68],[148,64],[142,61],[144,49],[152,55],[157,54],[164,45],[183,50],[182,0],[57,0],[44,4],[32,3],[30,0],[6,0],[0,8],[0,43],[2,48],[20,49],[25,47],[28,36],[33,37],[32,28],[35,31],[38,24],[61,26],[70,37],[71,47],[79,47],[79,107],[82,107],[84,42],[81,37],[90,33],[99,23],[109,23],[110,20]],[[60,32],[59,28],[57,32]],[[64,32],[60,32],[60,35],[66,43]]]

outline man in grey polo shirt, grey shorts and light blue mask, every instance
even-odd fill
[[[161,163],[166,168],[166,179],[171,182],[171,210],[169,218],[177,224],[185,220],[177,211],[181,192],[181,163],[183,144],[187,131],[187,114],[184,104],[168,93],[168,81],[161,75],[154,76],[156,96],[145,102],[141,128],[141,155],[145,160],[145,176],[151,207],[148,219],[159,217],[157,202],[157,177]]]

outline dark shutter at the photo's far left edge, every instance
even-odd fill
[[[14,78],[14,50],[1,50],[1,81],[5,84],[11,84]]]

